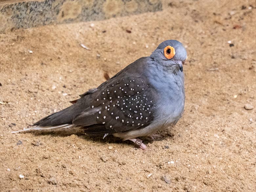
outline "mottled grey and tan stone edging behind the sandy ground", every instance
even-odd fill
[[[0,32],[160,10],[160,0],[0,0]]]

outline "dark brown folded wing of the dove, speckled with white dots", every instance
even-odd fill
[[[133,63],[134,64],[134,63]],[[135,63],[139,65],[138,63]],[[100,85],[90,106],[73,119],[86,130],[124,132],[148,125],[154,119],[155,100],[143,70],[129,68]]]

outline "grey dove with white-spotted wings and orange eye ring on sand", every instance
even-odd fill
[[[80,95],[71,106],[13,133],[76,128],[88,136],[131,140],[144,150],[139,138],[173,127],[183,114],[186,59],[181,42],[163,41],[150,56]]]

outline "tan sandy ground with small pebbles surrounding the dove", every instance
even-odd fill
[[[162,12],[0,34],[0,191],[255,191],[255,8],[164,1]],[[147,150],[71,132],[11,134],[166,39],[187,47],[185,111]]]

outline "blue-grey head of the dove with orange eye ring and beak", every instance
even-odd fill
[[[170,73],[177,73],[179,70],[183,71],[182,63],[187,59],[187,52],[179,41],[167,40],[162,42],[150,57]]]

